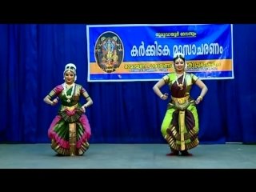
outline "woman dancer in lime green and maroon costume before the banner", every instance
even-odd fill
[[[196,105],[202,102],[208,88],[194,74],[186,73],[186,59],[184,54],[174,54],[174,73],[166,74],[154,87],[154,93],[162,100],[169,94],[162,94],[161,87],[170,87],[170,102],[162,122],[161,132],[170,146],[168,156],[192,156],[188,150],[198,146],[198,111]],[[201,88],[201,94],[196,100],[190,97],[190,89],[196,84]]]

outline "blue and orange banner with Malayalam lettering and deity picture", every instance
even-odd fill
[[[233,79],[233,25],[87,26],[88,82],[158,81],[186,55],[188,73]]]

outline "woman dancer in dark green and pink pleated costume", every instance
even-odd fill
[[[44,102],[51,106],[56,105],[58,100],[61,102],[58,115],[48,130],[48,137],[51,148],[62,156],[82,155],[89,148],[90,124],[84,113],[93,101],[87,91],[75,83],[76,69],[73,63],[67,64],[63,73],[65,82],[54,87],[44,98]],[[81,96],[86,98],[84,105],[79,102]]]

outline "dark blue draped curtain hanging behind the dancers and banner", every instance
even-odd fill
[[[198,106],[201,143],[256,142],[256,25],[234,25],[234,80],[205,81]],[[86,25],[0,25],[0,142],[50,142],[58,106],[42,99],[63,82],[64,66],[78,66],[78,83],[94,100],[87,109],[90,143],[165,143],[166,102],[155,82],[87,82]],[[163,92],[168,87],[163,88]],[[192,96],[200,90],[194,87]],[[85,102],[85,100],[82,100]]]

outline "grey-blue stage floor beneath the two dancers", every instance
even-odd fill
[[[80,157],[58,157],[50,144],[0,144],[0,168],[256,168],[256,145],[201,145],[193,157],[167,157],[166,144],[90,144]]]

